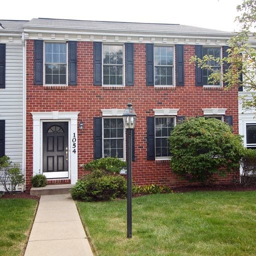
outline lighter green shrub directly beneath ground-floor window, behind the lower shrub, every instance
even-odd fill
[[[92,160],[83,165],[84,170],[103,170],[111,173],[119,173],[122,168],[126,168],[126,162],[115,157],[105,157]]]

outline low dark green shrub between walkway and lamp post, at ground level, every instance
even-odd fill
[[[73,199],[84,201],[98,201],[124,197],[126,180],[121,175],[113,175],[102,170],[93,170],[91,173],[77,180],[71,188]]]

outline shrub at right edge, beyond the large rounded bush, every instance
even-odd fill
[[[256,181],[256,149],[244,149],[241,159],[241,183],[248,186]]]

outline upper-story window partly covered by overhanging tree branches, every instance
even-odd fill
[[[220,58],[221,48],[220,47],[202,47],[202,56],[213,56],[213,58]],[[221,72],[221,66],[219,62],[215,60],[209,60],[208,64],[212,67],[213,72]],[[203,69],[202,70],[202,82],[203,85],[221,85],[221,81],[212,83],[210,82],[209,75],[212,73],[211,70]]]

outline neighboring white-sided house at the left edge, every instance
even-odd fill
[[[24,173],[24,20],[0,20],[0,157],[19,163]],[[0,190],[2,190],[0,185]]]

